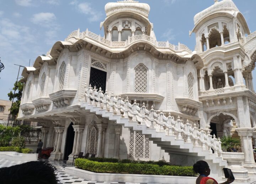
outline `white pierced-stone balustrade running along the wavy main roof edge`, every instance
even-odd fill
[[[170,50],[178,51],[178,52],[187,51],[188,53],[192,54],[192,51],[184,44],[179,43],[178,46],[175,46],[175,45],[170,44],[168,41],[158,42],[153,37],[147,36],[147,35],[135,35],[132,37],[128,37],[128,40],[126,40],[126,41],[117,42],[117,41],[107,40],[107,39],[101,37],[100,35],[90,32],[88,29],[86,29],[86,31],[84,31],[82,33],[80,33],[80,30],[78,29],[78,30],[75,30],[72,33],[70,33],[68,35],[68,37],[65,39],[65,41],[68,41],[70,38],[80,38],[80,39],[90,38],[92,40],[96,40],[96,41],[100,42],[101,44],[104,44],[109,47],[126,47],[136,41],[145,40],[145,41],[151,42],[156,47],[165,47],[165,48],[169,48]],[[46,55],[48,55],[48,54],[50,54],[50,50],[47,52]]]

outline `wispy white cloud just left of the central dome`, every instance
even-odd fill
[[[92,8],[91,3],[89,2],[78,3],[78,1],[74,0],[70,2],[70,4],[75,5],[75,7],[79,10],[79,12],[87,15],[88,20],[90,22],[99,21],[100,18],[102,17],[102,13]]]

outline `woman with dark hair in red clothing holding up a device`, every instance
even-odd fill
[[[208,177],[210,174],[210,167],[206,161],[197,161],[193,165],[193,169],[195,173],[200,174],[200,176],[198,176],[196,180],[196,184],[218,184],[218,182],[215,179]],[[230,184],[232,182],[234,182],[234,180],[228,178],[226,182],[219,184]]]

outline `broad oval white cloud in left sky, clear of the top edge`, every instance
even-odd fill
[[[53,22],[55,21],[56,16],[54,15],[54,13],[36,13],[33,15],[33,17],[31,18],[31,21],[34,24],[38,24],[41,25],[42,27],[49,27],[53,24]]]

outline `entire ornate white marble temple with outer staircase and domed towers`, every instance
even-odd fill
[[[22,72],[18,119],[43,125],[43,146],[54,147],[49,159],[203,159],[215,177],[229,167],[249,182],[256,32],[234,2],[214,0],[194,16],[194,51],[156,39],[148,4],[111,2],[105,12],[103,37],[75,30]],[[241,139],[242,152],[222,151],[220,138],[229,135]]]

